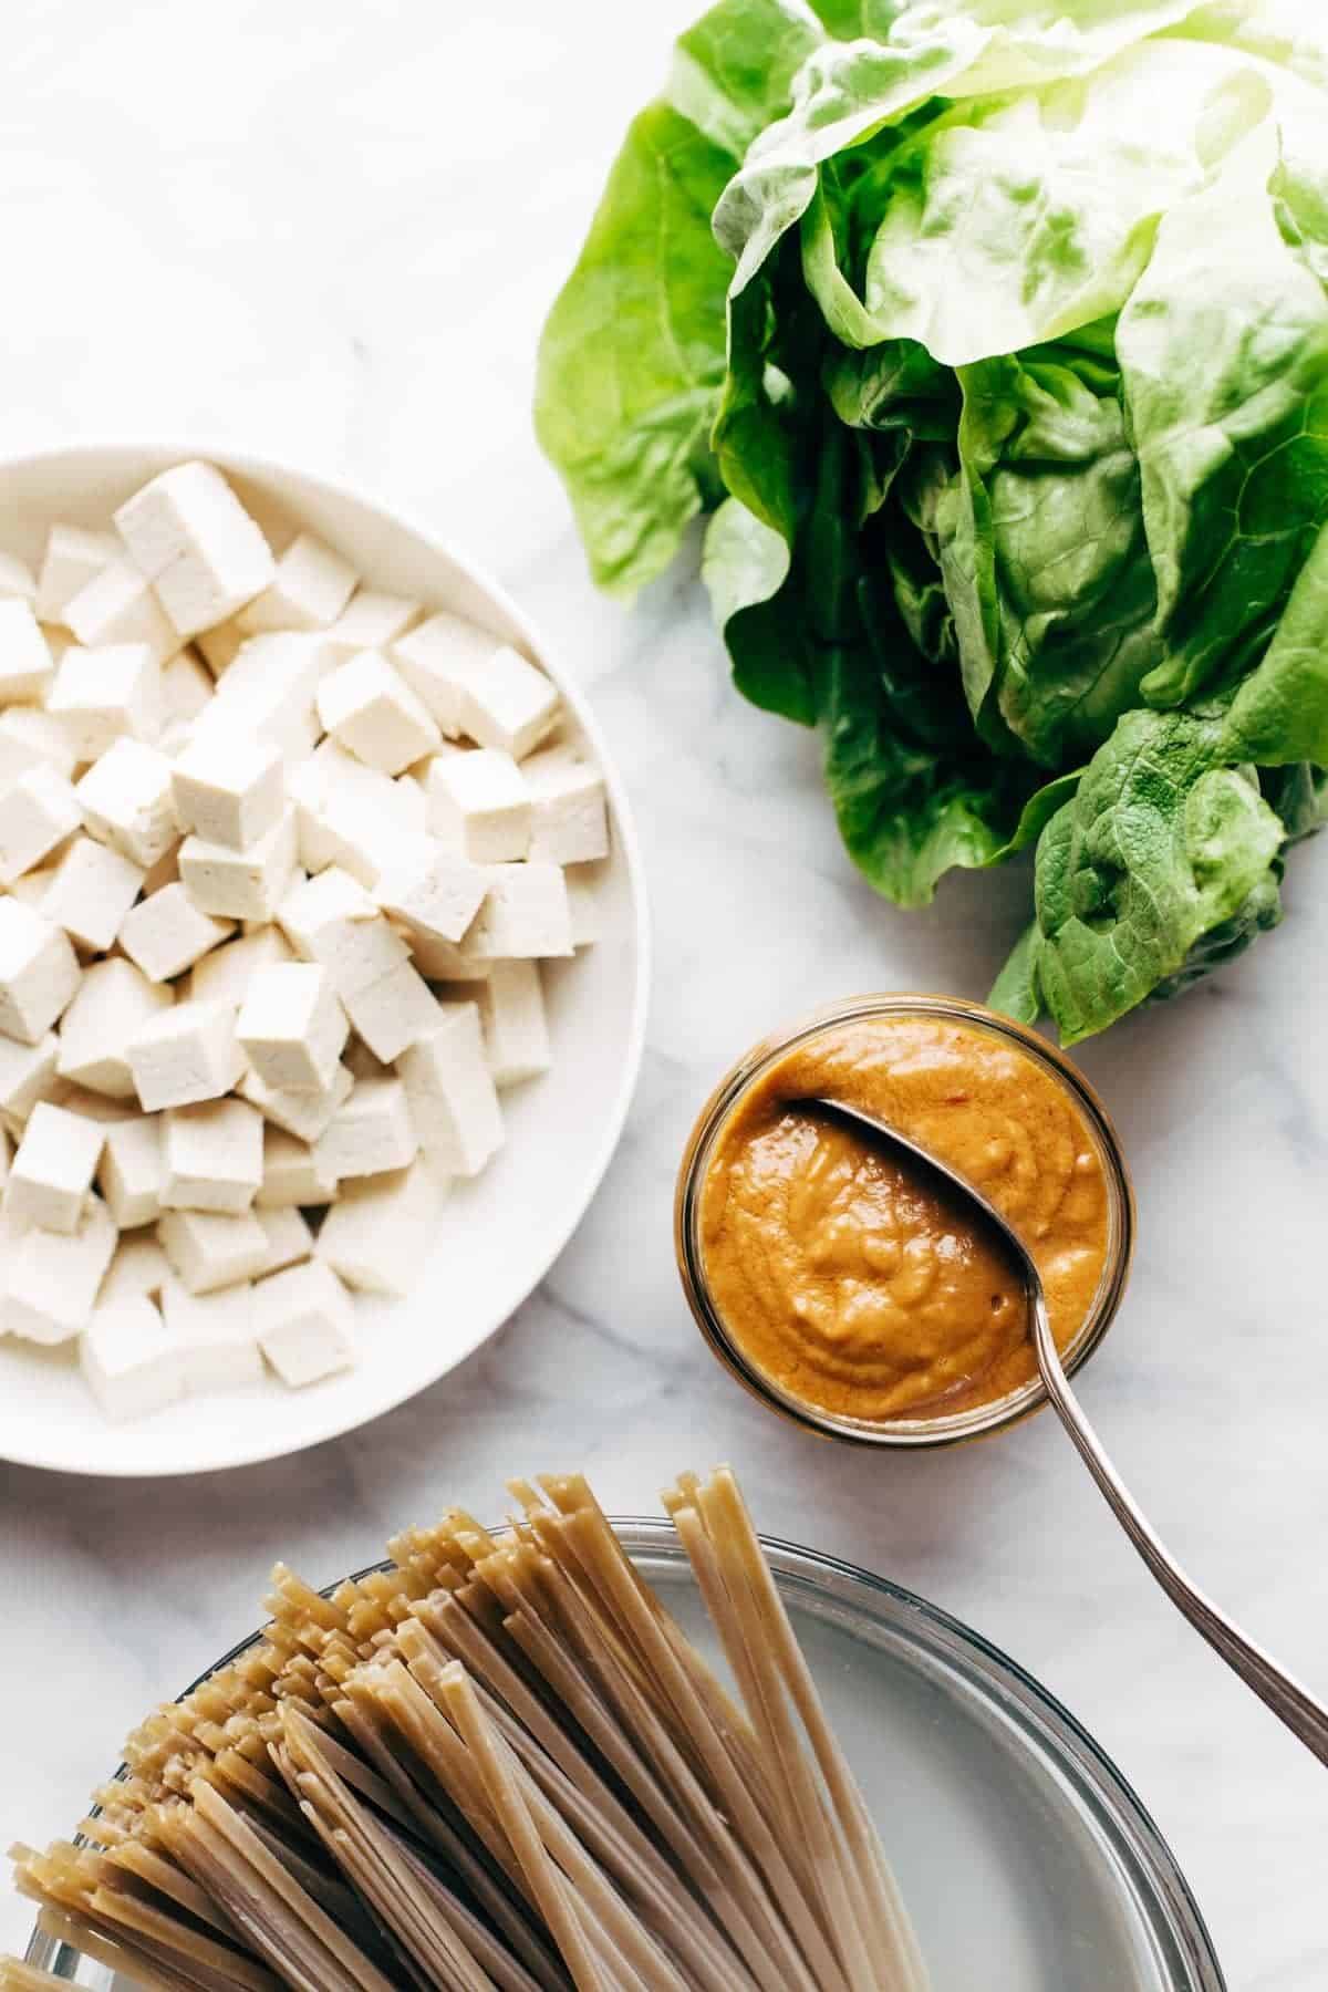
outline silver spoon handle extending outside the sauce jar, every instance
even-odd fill
[[[1029,1291],[1033,1313],[1033,1337],[1037,1345],[1037,1367],[1055,1412],[1069,1432],[1079,1458],[1093,1474],[1107,1506],[1135,1544],[1135,1550],[1149,1566],[1173,1606],[1185,1614],[1197,1633],[1209,1641],[1232,1673],[1254,1689],[1274,1715],[1278,1715],[1292,1735],[1300,1737],[1306,1749],[1314,1751],[1320,1763],[1328,1765],[1328,1709],[1316,1701],[1308,1687],[1302,1687],[1284,1667],[1254,1645],[1211,1598],[1191,1584],[1167,1546],[1141,1514],[1133,1494],[1103,1452],[1097,1432],[1089,1424],[1079,1398],[1069,1388],[1061,1359],[1047,1321],[1047,1303],[1035,1287]]]

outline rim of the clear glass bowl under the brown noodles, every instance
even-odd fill
[[[681,1576],[689,1574],[687,1552],[673,1522],[661,1516],[611,1516],[609,1520],[629,1554],[663,1558],[671,1570]],[[494,1528],[492,1534],[506,1534],[506,1526]],[[1226,1992],[1213,1936],[1169,1841],[1123,1771],[1049,1687],[964,1619],[892,1578],[882,1578],[826,1550],[786,1542],[782,1536],[761,1534],[761,1542],[784,1600],[790,1594],[794,1598],[812,1594],[838,1606],[856,1625],[890,1627],[912,1647],[940,1659],[966,1687],[976,1689],[990,1707],[1005,1715],[1017,1731],[1019,1749],[1041,1755],[1055,1773],[1069,1777],[1079,1811],[1087,1811],[1093,1825],[1107,1831],[1117,1861],[1121,1855],[1129,1859],[1135,1896],[1143,1890],[1143,1900],[1137,1900],[1135,1906],[1147,1918],[1149,1936],[1155,1946],[1159,1942],[1171,1946],[1171,1954],[1161,1956],[1171,1974],[1169,1982],[1175,1984],[1175,1972],[1183,1968],[1189,1974],[1183,1980],[1185,1992]],[[364,1564],[360,1570],[325,1584],[321,1596],[329,1598],[340,1584],[354,1584],[392,1568],[390,1558]],[[205,1667],[175,1699],[183,1701],[263,1635],[265,1625],[255,1627]],[[123,1769],[121,1765],[115,1775],[119,1777]],[[1125,1892],[1125,1880],[1119,1880],[1119,1890]],[[56,1976],[70,1976],[70,1968],[78,1964],[78,1952],[34,1926],[26,1962]]]

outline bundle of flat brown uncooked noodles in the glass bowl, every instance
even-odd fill
[[[585,1480],[512,1494],[331,1598],[279,1566],[82,1843],[14,1849],[40,1926],[153,1992],[922,1992],[733,1474],[665,1494],[733,1689]]]

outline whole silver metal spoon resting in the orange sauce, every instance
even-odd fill
[[[1171,1556],[1155,1530],[1149,1526],[1133,1494],[1103,1452],[1101,1440],[1083,1414],[1065,1370],[1061,1369],[1061,1359],[1051,1337],[1051,1323],[1047,1319],[1047,1295],[1041,1285],[1041,1275],[1033,1265],[1031,1253],[1019,1233],[1007,1223],[1005,1217],[1001,1217],[994,1203],[988,1203],[982,1191],[976,1189],[968,1177],[940,1161],[940,1157],[930,1149],[920,1147],[918,1141],[910,1139],[910,1135],[900,1133],[898,1127],[890,1127],[886,1121],[878,1121],[860,1108],[846,1106],[842,1100],[800,1100],[798,1106],[826,1114],[832,1120],[848,1123],[850,1127],[864,1129],[886,1147],[902,1149],[914,1161],[922,1163],[924,1169],[938,1175],[950,1189],[956,1189],[962,1197],[966,1197],[978,1211],[982,1211],[988,1223],[994,1225],[1013,1253],[1015,1265],[1023,1275],[1029,1315],[1033,1321],[1033,1351],[1037,1355],[1037,1370],[1041,1374],[1043,1388],[1051,1398],[1061,1424],[1075,1442],[1079,1458],[1093,1474],[1107,1506],[1161,1588],[1171,1598],[1173,1606],[1185,1614],[1195,1631],[1199,1631],[1215,1653],[1220,1653],[1226,1665],[1254,1689],[1258,1699],[1286,1723],[1292,1735],[1300,1737],[1304,1747],[1314,1751],[1320,1763],[1328,1763],[1328,1709],[1316,1701],[1314,1695],[1300,1685],[1300,1681],[1286,1673],[1284,1667],[1278,1667],[1278,1663],[1264,1653],[1262,1647],[1254,1645],[1252,1639],[1246,1639],[1240,1627],[1232,1623],[1224,1612],[1218,1612],[1218,1608],[1205,1598],[1195,1584],[1191,1584],[1175,1556]]]

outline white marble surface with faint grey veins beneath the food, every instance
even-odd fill
[[[6,22],[0,446],[219,434],[348,472],[488,562],[595,687],[655,900],[645,1074],[546,1289],[462,1372],[301,1458],[175,1484],[0,1468],[0,1843],[80,1815],[121,1731],[255,1619],[512,1470],[585,1462],[651,1510],[731,1458],[775,1532],[888,1572],[1041,1675],[1137,1783],[1238,1992],[1328,1982],[1328,1773],[1171,1614],[1049,1418],[874,1458],[804,1438],[709,1361],[669,1243],[717,1072],[872,986],[982,994],[1021,876],[928,916],[856,882],[812,743],[743,707],[689,576],[595,600],[528,422],[542,311],[687,0],[30,0]],[[1252,960],[1083,1064],[1141,1197],[1127,1307],[1085,1374],[1193,1570],[1328,1689],[1328,847]],[[1318,902],[1318,904],[1316,904]],[[22,1906],[0,1896],[0,1938]],[[4,1944],[0,1942],[0,1948]],[[946,1988],[948,1992],[948,1988]]]

